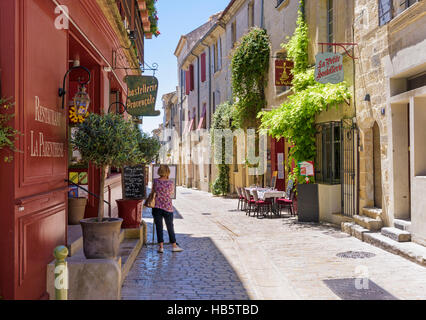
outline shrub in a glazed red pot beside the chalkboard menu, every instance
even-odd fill
[[[136,129],[137,130],[137,129]],[[139,130],[137,130],[139,131]],[[137,133],[138,148],[140,154],[138,157],[132,159],[132,164],[146,164],[151,163],[158,155],[160,151],[161,144],[160,142],[148,135],[143,131]],[[142,167],[142,170],[145,172],[145,167]],[[122,170],[124,172],[124,170]],[[124,179],[123,179],[124,181]],[[123,190],[124,194],[124,190]],[[142,210],[143,203],[142,199],[120,199],[116,200],[118,206],[118,216],[123,219],[123,228],[139,228],[142,221]]]

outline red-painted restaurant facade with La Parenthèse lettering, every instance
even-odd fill
[[[46,266],[53,260],[53,249],[67,243],[68,102],[78,79],[87,75],[70,73],[64,109],[58,89],[78,60],[91,72],[91,112],[107,112],[114,102],[111,96],[125,100],[126,71],[140,71],[122,69],[135,68],[135,59],[126,51],[128,39],[113,18],[117,12],[122,17],[126,10],[131,12],[128,3],[117,1],[113,7],[102,0],[0,1],[0,94],[15,103],[11,125],[23,133],[13,162],[0,163],[3,299],[47,298]],[[65,5],[68,14],[59,5]],[[64,29],[67,17],[69,27]],[[143,33],[134,43],[137,62],[143,57]],[[99,175],[89,166],[89,189],[95,194],[100,193]],[[109,181],[110,186],[121,185],[119,178]],[[89,197],[86,217],[95,216],[96,207],[96,199]]]

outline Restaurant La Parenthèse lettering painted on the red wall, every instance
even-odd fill
[[[40,98],[35,97],[35,121],[54,127],[64,126],[62,113],[46,108],[40,104]],[[65,144],[48,141],[43,132],[30,131],[31,157],[63,158],[65,156]]]

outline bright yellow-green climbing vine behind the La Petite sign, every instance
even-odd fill
[[[301,1],[304,5],[304,1]],[[315,116],[331,107],[338,107],[351,98],[346,82],[320,84],[315,81],[314,68],[308,60],[308,26],[303,13],[299,11],[297,28],[293,37],[283,48],[288,59],[294,61],[293,95],[280,108],[270,112],[260,112],[261,131],[274,138],[285,138],[293,145],[288,165],[298,161],[312,161],[316,155]],[[291,170],[289,170],[291,172]],[[298,168],[290,173],[289,179],[305,183],[298,174]],[[310,182],[313,182],[311,178]]]

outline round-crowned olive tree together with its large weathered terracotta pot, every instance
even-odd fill
[[[138,130],[119,115],[90,114],[78,126],[72,143],[82,159],[101,170],[98,217],[80,221],[83,249],[87,259],[115,258],[120,246],[123,219],[104,218],[105,169],[123,167],[139,161]]]

